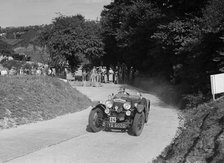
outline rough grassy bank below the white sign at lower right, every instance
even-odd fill
[[[224,98],[184,115],[179,134],[154,163],[223,163]]]

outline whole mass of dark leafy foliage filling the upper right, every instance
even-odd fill
[[[104,63],[125,63],[209,93],[209,75],[224,71],[222,0],[114,1],[102,12]]]

